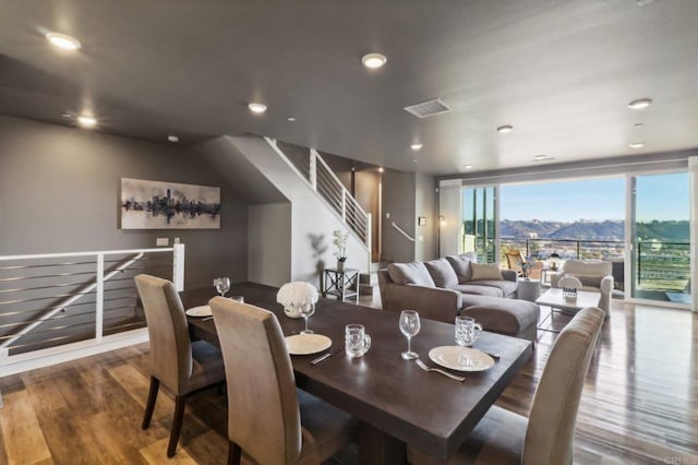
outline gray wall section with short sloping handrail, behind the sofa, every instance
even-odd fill
[[[414,172],[386,169],[383,172],[383,250],[382,260],[410,262],[414,260],[414,242],[408,240],[393,222],[414,237],[417,224]],[[388,217],[389,216],[389,217]]]

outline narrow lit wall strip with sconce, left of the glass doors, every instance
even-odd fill
[[[426,261],[438,258],[438,200],[436,196],[436,178],[418,172],[414,192],[416,216],[424,216],[426,225],[417,224],[417,242],[414,242],[414,260]]]

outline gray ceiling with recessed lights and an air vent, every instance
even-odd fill
[[[435,175],[698,147],[696,0],[0,0],[0,12],[4,115],[73,124],[61,114],[87,111],[100,131],[161,143],[256,133]],[[57,50],[49,31],[82,48]],[[369,52],[385,67],[365,69]],[[436,97],[453,111],[402,109]],[[642,97],[653,104],[627,107]]]

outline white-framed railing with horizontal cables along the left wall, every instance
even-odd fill
[[[15,355],[145,327],[133,277],[154,274],[181,288],[182,261],[183,245],[0,257],[0,368]]]

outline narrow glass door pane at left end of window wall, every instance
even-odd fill
[[[476,252],[481,263],[496,262],[496,195],[494,186],[462,189],[462,252]]]

